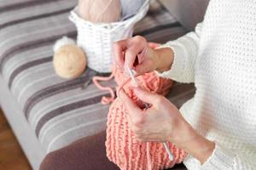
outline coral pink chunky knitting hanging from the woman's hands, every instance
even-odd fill
[[[131,78],[127,81],[127,78],[125,78],[123,73],[116,71],[115,80],[120,88],[123,87],[125,89],[125,93],[128,94],[131,99],[138,102],[137,97],[133,94],[131,88]],[[172,87],[171,80],[160,78],[154,72],[137,77],[137,82],[139,82],[142,88],[162,95],[166,95]],[[172,150],[174,156],[173,161],[169,160],[168,154],[162,143],[138,142],[128,125],[125,116],[126,114],[127,111],[122,102],[119,98],[115,99],[108,112],[107,140],[105,143],[107,156],[110,161],[117,164],[121,170],[164,169],[173,167],[176,163],[183,161],[186,153],[183,150],[176,148],[170,142],[167,144]]]

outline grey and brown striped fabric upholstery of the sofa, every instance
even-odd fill
[[[92,83],[87,69],[75,80],[55,75],[52,47],[62,36],[76,38],[67,19],[77,0],[0,0],[0,72],[23,109],[27,122],[47,152],[105,129],[109,105],[100,100],[108,93]],[[160,3],[136,26],[136,33],[153,42],[166,42],[185,33]],[[115,87],[115,83],[105,82]],[[193,85],[178,84],[169,98],[178,106],[194,94]]]

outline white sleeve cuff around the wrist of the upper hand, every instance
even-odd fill
[[[183,54],[183,48],[176,43],[166,43],[159,48],[172,48],[174,58],[172,62],[172,68],[169,71],[155,71],[158,76],[165,78],[172,78],[176,80],[178,77],[182,77],[183,71],[185,70],[186,59]]]

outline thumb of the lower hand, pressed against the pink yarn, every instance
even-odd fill
[[[155,101],[160,98],[158,94],[148,92],[143,88],[134,88],[134,93],[137,95],[138,99],[151,105],[154,105]]]

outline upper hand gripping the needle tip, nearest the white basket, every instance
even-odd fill
[[[113,43],[113,58],[121,71],[127,67],[134,69],[137,75],[154,71],[160,64],[160,56],[154,48],[160,44],[147,42],[144,37],[131,37]]]

